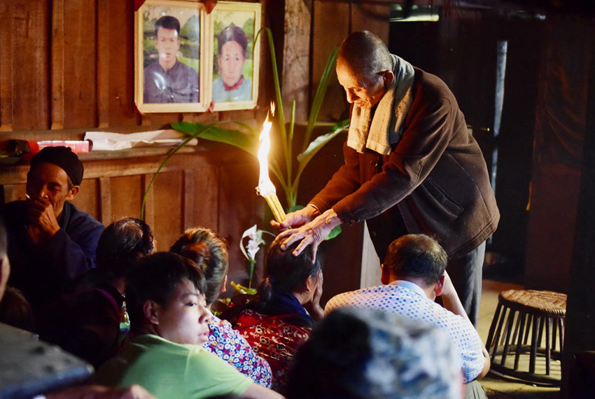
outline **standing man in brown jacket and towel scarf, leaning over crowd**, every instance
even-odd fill
[[[380,259],[393,239],[434,235],[475,324],[485,240],[500,214],[483,155],[454,95],[437,76],[388,52],[369,31],[339,48],[337,77],[352,104],[345,165],[309,206],[276,227],[295,253],[341,223],[367,221]]]

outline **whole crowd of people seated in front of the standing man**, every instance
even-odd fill
[[[393,241],[384,285],[323,309],[320,252],[294,255],[297,243],[277,238],[258,293],[233,297],[218,317],[227,243],[193,228],[155,253],[144,221],[104,228],[67,201],[82,176],[69,149],[44,149],[31,161],[28,199],[1,211],[0,322],[96,370],[90,385],[48,398],[486,397],[477,379],[489,357],[434,239]]]

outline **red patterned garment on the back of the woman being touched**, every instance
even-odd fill
[[[251,309],[244,309],[234,323],[255,353],[268,361],[273,381],[271,388],[282,391],[288,380],[288,371],[295,352],[306,342],[311,328],[294,325],[283,318],[292,314],[267,316]]]

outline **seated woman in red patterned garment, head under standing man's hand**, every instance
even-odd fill
[[[269,362],[271,387],[278,392],[284,390],[293,356],[309,338],[314,319],[323,316],[318,303],[323,284],[321,256],[314,263],[311,251],[294,256],[295,246],[281,251],[281,241],[273,241],[265,261],[267,278],[258,294],[235,297],[221,314]]]

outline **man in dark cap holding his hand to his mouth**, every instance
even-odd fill
[[[43,148],[31,159],[27,200],[1,209],[12,265],[9,285],[20,288],[36,310],[95,266],[104,225],[69,202],[82,180],[83,164],[70,148]]]

